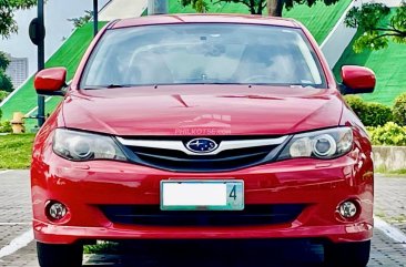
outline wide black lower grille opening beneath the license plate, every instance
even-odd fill
[[[292,223],[304,209],[301,204],[246,205],[244,210],[161,210],[156,205],[100,206],[115,224],[145,226],[244,226]]]

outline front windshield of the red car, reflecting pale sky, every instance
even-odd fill
[[[143,25],[108,30],[81,88],[160,84],[324,86],[301,29],[232,23]]]

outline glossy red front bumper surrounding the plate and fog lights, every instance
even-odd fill
[[[49,164],[48,164],[49,163]],[[93,239],[322,238],[362,242],[373,232],[372,161],[359,152],[332,160],[291,160],[227,173],[173,173],[119,162],[73,163],[49,153],[31,168],[33,229],[42,243]],[[146,226],[116,224],[101,205],[159,205],[162,179],[243,179],[245,204],[305,204],[292,222],[238,226]],[[361,213],[345,220],[337,206],[356,199]],[[68,206],[52,223],[49,201]]]

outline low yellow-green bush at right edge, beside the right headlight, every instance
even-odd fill
[[[406,126],[388,122],[384,126],[367,127],[374,145],[406,145]]]

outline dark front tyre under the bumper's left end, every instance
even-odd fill
[[[37,254],[41,267],[81,267],[83,246],[50,245],[38,242]]]

